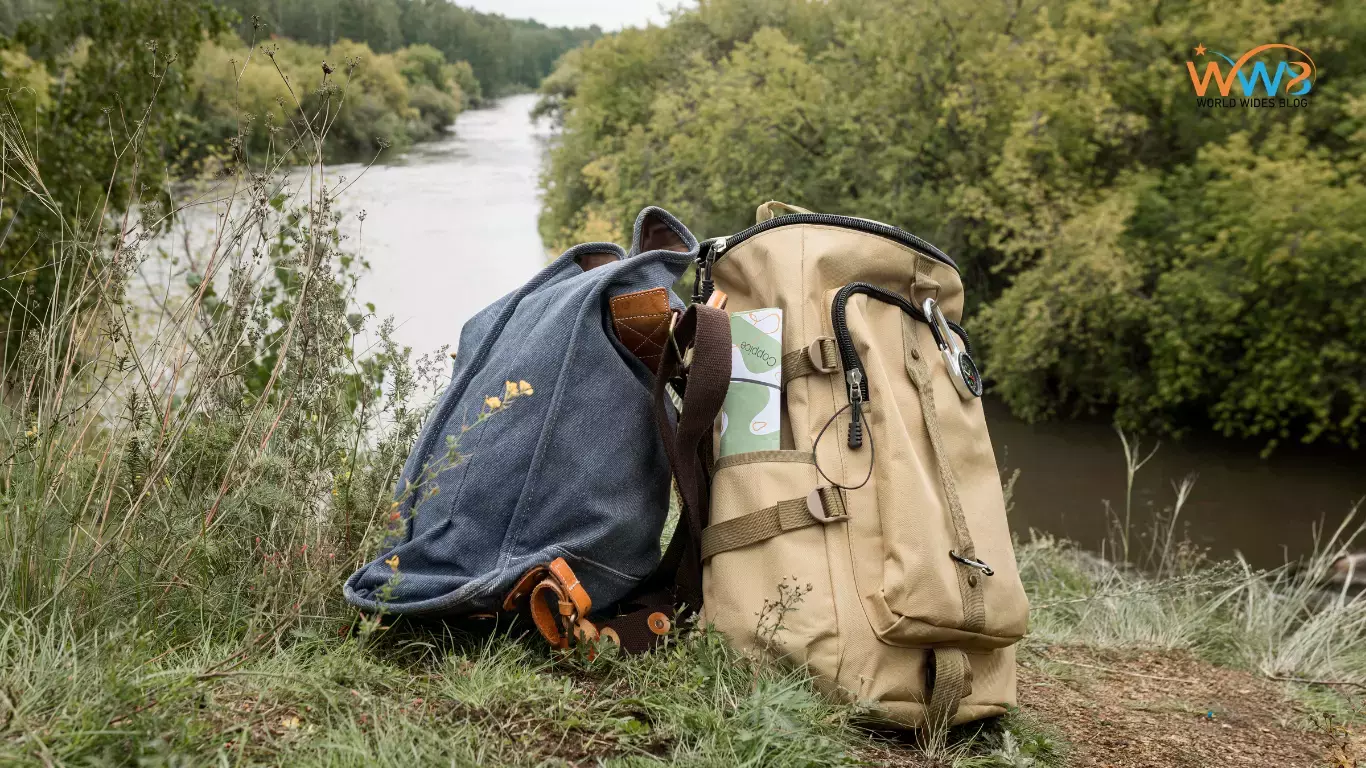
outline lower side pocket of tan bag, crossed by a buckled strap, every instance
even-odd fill
[[[712,534],[703,538],[703,549],[710,544],[720,551],[703,563],[702,612],[735,648],[770,653],[833,681],[840,649],[826,527],[844,523],[820,523],[806,512],[807,496],[821,485],[818,477],[806,451],[738,454],[719,463],[712,481]],[[746,515],[751,517],[736,522]],[[779,527],[755,527],[765,521]],[[742,544],[747,540],[754,541]]]

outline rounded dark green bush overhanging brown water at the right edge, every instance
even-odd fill
[[[1190,168],[1117,187],[992,302],[996,391],[1030,418],[1115,406],[1156,430],[1354,443],[1363,247],[1356,169],[1295,126],[1258,152],[1233,134]]]

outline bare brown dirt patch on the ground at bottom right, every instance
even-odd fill
[[[1020,666],[1020,707],[1094,768],[1313,768],[1329,739],[1264,678],[1182,652],[1048,648]]]

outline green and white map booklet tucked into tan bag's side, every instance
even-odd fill
[[[776,451],[783,417],[783,310],[731,314],[731,387],[721,406],[717,456]]]

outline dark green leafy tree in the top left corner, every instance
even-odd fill
[[[36,11],[51,14],[44,23],[25,20]],[[4,153],[8,163],[41,159],[29,169],[33,189],[0,190],[8,343],[46,320],[55,265],[83,254],[71,246],[75,232],[101,232],[107,217],[134,204],[165,209],[167,148],[190,101],[184,72],[202,40],[223,30],[223,16],[201,0],[12,0],[4,15],[23,22],[0,51]],[[117,230],[87,241],[122,247]],[[20,294],[31,297],[15,316]]]

